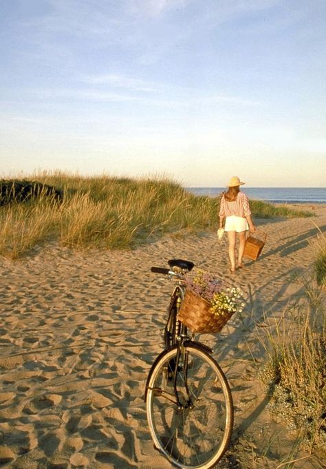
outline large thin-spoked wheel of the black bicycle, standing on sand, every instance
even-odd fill
[[[146,387],[146,413],[155,447],[182,469],[210,469],[228,447],[233,427],[230,386],[219,364],[199,344],[182,348],[177,371],[177,393],[193,407],[177,408],[169,363],[177,346],[161,353],[153,364]],[[184,364],[187,365],[185,366]],[[186,368],[186,378],[184,369]]]

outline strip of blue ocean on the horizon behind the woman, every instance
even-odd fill
[[[186,187],[196,196],[215,197],[226,187]],[[264,200],[275,204],[326,204],[325,187],[241,187],[251,199]]]

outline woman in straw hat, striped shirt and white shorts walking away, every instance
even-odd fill
[[[230,272],[235,273],[235,269],[242,269],[242,256],[246,242],[246,230],[256,231],[252,222],[249,200],[246,194],[240,192],[241,183],[237,176],[233,176],[228,183],[228,191],[221,196],[219,208],[219,227],[223,226],[224,218],[225,231],[228,233],[228,256],[231,262]],[[239,249],[237,267],[235,265],[235,244],[239,235]]]

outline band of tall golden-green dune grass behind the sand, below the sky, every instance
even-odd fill
[[[194,196],[169,178],[34,174],[28,180],[63,192],[63,203],[36,198],[0,207],[0,254],[18,258],[36,244],[57,240],[74,249],[130,249],[164,233],[215,230],[219,197]],[[307,216],[252,202],[253,216]]]

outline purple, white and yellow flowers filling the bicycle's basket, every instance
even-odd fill
[[[186,276],[186,289],[209,303],[209,311],[216,318],[228,320],[232,314],[241,313],[245,304],[237,287],[223,288],[223,282],[208,272],[196,269]]]

